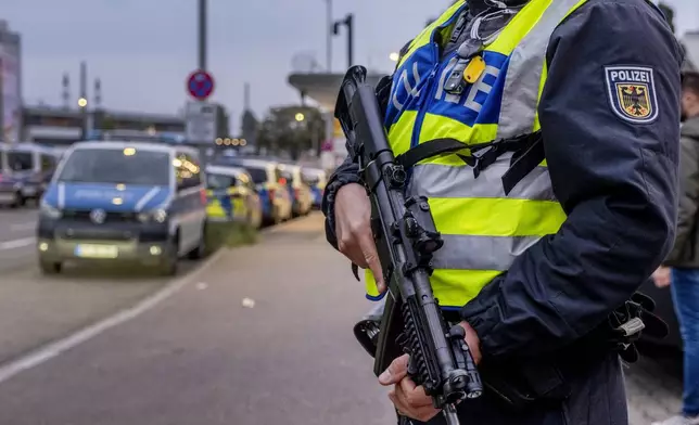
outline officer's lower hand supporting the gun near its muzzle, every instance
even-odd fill
[[[389,369],[379,376],[379,382],[384,386],[395,385],[389,392],[389,398],[401,415],[428,422],[440,411],[434,409],[432,398],[424,392],[424,388],[417,386],[408,377],[408,355],[395,359]]]

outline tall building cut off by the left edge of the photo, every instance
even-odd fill
[[[22,130],[21,37],[0,20],[0,141],[20,141]]]

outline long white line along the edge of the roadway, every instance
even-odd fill
[[[294,221],[291,221],[275,228],[264,229],[260,231],[260,233],[274,233],[276,231],[279,231],[280,228],[283,229],[293,223]],[[18,242],[18,241],[11,241],[11,242]],[[30,243],[33,242],[34,242],[34,237],[30,239]],[[145,299],[142,299],[134,307],[120,310],[117,313],[106,319],[102,319],[91,325],[88,325],[87,327],[84,327],[82,330],[79,330],[64,338],[58,339],[53,343],[49,343],[42,347],[39,347],[28,352],[25,356],[22,356],[15,360],[11,360],[8,363],[0,364],[0,384],[2,384],[3,382],[12,378],[13,376],[24,371],[34,369],[62,355],[65,351],[76,348],[77,346],[84,343],[87,343],[88,340],[94,338],[96,336],[99,336],[100,334],[109,331],[112,327],[118,326],[119,324],[123,324],[132,319],[136,319],[137,317],[141,315],[142,313],[157,306],[165,299],[177,294],[189,283],[193,282],[194,281],[193,278],[198,276],[201,272],[206,270],[208,266],[214,263],[226,252],[228,252],[228,249],[225,249],[225,248],[219,249],[214,255],[208,257],[205,261],[203,261],[201,265],[199,265],[194,270],[192,270],[191,272],[189,272],[188,274],[179,279],[170,281],[167,285],[165,285],[165,287],[163,287],[155,294],[147,297]]]

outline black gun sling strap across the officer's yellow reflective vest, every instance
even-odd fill
[[[471,155],[458,153],[463,150],[469,150]],[[503,188],[507,195],[514,189],[517,183],[545,159],[544,141],[542,140],[541,131],[471,145],[456,139],[430,140],[396,156],[396,162],[404,168],[409,169],[421,160],[445,154],[455,154],[467,165],[473,167],[473,175],[478,178],[481,171],[490,167],[506,152],[514,153],[510,168],[503,176]]]

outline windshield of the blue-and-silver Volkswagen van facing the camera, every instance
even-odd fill
[[[169,185],[173,169],[167,152],[135,147],[81,149],[65,160],[61,182]]]

